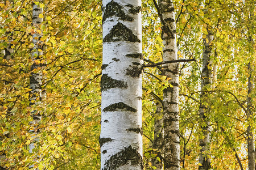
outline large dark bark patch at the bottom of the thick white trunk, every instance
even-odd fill
[[[104,164],[104,168],[102,170],[115,170],[126,164],[139,165],[141,170],[143,169],[142,156],[136,148],[131,146],[125,147],[117,154],[111,156]]]

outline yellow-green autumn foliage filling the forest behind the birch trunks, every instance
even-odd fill
[[[43,8],[42,22],[36,26],[32,24],[34,3]],[[94,0],[0,2],[3,169],[31,165],[100,169],[101,4]],[[181,169],[199,167],[202,103],[210,122],[207,156],[212,169],[248,168],[247,141],[255,137],[255,4],[254,0],[174,1],[178,57],[196,59],[179,64]],[[212,84],[200,99],[202,54],[209,30],[214,37],[208,65]],[[144,63],[161,62],[161,24],[152,0],[142,1],[142,32]],[[35,33],[40,36],[34,40],[42,44],[37,49],[40,56],[32,54]],[[151,160],[158,158],[154,129],[162,118],[162,91],[168,84],[161,69],[143,71],[144,169],[155,169]],[[40,93],[44,95],[32,101],[30,77],[34,74],[42,76]],[[39,121],[31,123],[32,112]]]

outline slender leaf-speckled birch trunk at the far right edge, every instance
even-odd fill
[[[248,64],[249,78],[248,78],[248,92],[247,92],[247,121],[249,126],[247,127],[247,149],[248,149],[248,167],[249,170],[255,169],[255,158],[254,158],[254,139],[253,132],[251,131],[251,118],[253,118],[252,104],[251,104],[251,91],[253,90],[253,79],[251,78],[251,63]]]

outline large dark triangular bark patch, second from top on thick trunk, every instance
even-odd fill
[[[122,23],[117,23],[110,30],[108,35],[103,39],[103,42],[116,42],[116,41],[127,41],[127,42],[141,42],[138,36],[134,35],[131,29],[127,28]]]

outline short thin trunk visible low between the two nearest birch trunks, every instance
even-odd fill
[[[156,157],[152,158],[152,166],[156,167],[155,170],[163,169],[163,107],[161,103],[157,103],[155,112],[155,125],[154,125],[154,141],[152,147],[157,150]],[[159,158],[159,159],[157,159]],[[159,161],[160,160],[160,161]]]

